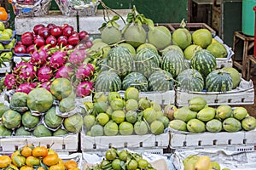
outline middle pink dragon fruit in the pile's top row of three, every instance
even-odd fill
[[[67,54],[63,51],[56,51],[50,56],[49,65],[54,69],[58,69],[63,66],[67,61]]]

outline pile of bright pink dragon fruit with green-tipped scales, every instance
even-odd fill
[[[49,90],[55,78],[64,77],[73,83],[77,97],[89,96],[96,69],[86,62],[87,57],[85,48],[39,48],[33,51],[30,60],[18,63],[3,83],[8,90],[28,94],[38,87]]]

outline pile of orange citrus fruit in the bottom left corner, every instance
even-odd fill
[[[0,156],[0,168],[6,170],[79,170],[74,160],[63,161],[55,150],[27,144],[10,156]]]

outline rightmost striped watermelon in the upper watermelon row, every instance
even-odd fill
[[[190,62],[191,67],[199,71],[204,78],[214,71],[217,66],[216,58],[207,49],[196,50]]]

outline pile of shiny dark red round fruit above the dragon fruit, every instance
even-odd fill
[[[75,31],[73,26],[63,24],[56,26],[49,23],[47,26],[38,24],[33,27],[32,32],[25,32],[21,35],[20,41],[15,45],[15,54],[32,54],[37,48],[67,47],[75,48],[78,44],[83,44],[85,48],[90,48],[87,31]]]

